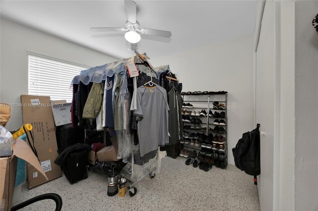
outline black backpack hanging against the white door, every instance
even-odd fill
[[[254,176],[254,184],[257,185],[256,176],[260,174],[260,143],[259,126],[251,132],[243,133],[235,148],[232,149],[235,165],[246,174]]]

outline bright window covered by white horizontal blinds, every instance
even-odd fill
[[[29,95],[72,102],[71,82],[88,67],[29,54]]]

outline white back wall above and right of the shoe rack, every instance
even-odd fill
[[[151,55],[149,55],[151,57]],[[228,154],[242,133],[254,129],[253,36],[152,58],[154,66],[169,64],[187,91],[228,91]]]

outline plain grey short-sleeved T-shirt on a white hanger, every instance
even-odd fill
[[[169,144],[166,91],[160,87],[141,86],[137,89],[137,109],[140,156]]]

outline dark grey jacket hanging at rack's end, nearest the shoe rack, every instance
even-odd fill
[[[183,99],[175,88],[168,92],[169,105],[169,145],[176,144],[183,140],[183,123],[181,107]]]

